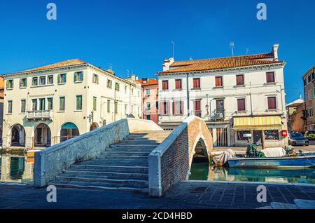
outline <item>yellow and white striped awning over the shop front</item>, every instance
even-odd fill
[[[280,116],[235,117],[233,130],[275,130],[281,129]]]

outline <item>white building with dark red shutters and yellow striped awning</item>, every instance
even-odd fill
[[[285,62],[271,53],[228,58],[165,60],[159,78],[159,123],[174,129],[190,114],[207,123],[214,146],[246,146],[244,133],[263,147],[284,147]]]

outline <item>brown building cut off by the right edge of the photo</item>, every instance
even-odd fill
[[[302,76],[304,83],[305,130],[315,130],[315,66]]]

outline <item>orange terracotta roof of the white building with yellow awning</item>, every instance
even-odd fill
[[[271,63],[283,62],[274,61],[272,53],[260,53],[254,55],[241,55],[227,58],[211,58],[200,60],[176,61],[170,65],[170,69],[158,74],[203,71],[210,69],[225,69],[232,67],[246,67],[251,65],[267,65]],[[268,60],[269,59],[269,60]]]

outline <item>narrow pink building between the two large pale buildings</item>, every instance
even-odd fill
[[[142,86],[142,118],[158,123],[159,82],[157,79],[141,79],[137,81]]]

